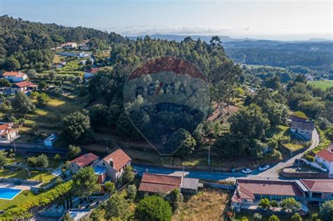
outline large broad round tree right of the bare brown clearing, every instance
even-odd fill
[[[231,116],[230,123],[230,130],[233,133],[240,133],[250,139],[259,139],[265,135],[270,121],[258,105],[252,104]]]

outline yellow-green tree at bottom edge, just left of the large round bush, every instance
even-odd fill
[[[105,217],[107,219],[118,217],[126,220],[129,217],[129,202],[121,194],[113,194],[106,202]]]

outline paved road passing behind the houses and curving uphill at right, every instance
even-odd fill
[[[319,135],[316,130],[313,132],[313,142],[311,144],[311,147],[308,149],[315,148],[319,143]],[[307,150],[308,150],[307,149]],[[236,178],[254,178],[254,179],[285,179],[280,178],[279,173],[282,168],[285,168],[287,166],[292,166],[292,163],[294,163],[295,159],[300,158],[301,154],[297,154],[296,156],[293,156],[291,159],[288,159],[287,161],[282,161],[280,163],[277,163],[276,165],[272,166],[270,169],[260,172],[259,170],[254,170],[252,174],[244,174],[244,173],[222,173],[222,172],[207,172],[207,171],[195,171],[195,170],[185,170],[185,172],[188,172],[188,175],[186,177],[188,178],[197,178],[202,180],[235,180]],[[170,174],[174,173],[176,171],[179,171],[178,169],[170,169],[170,168],[157,168],[157,167],[151,167],[151,166],[139,166],[136,164],[133,164],[133,168],[135,168],[139,174],[149,172],[149,173],[162,173],[162,174]]]

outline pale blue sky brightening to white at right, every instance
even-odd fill
[[[0,15],[124,36],[333,40],[332,11],[332,0],[0,0]]]

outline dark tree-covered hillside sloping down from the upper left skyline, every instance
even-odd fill
[[[49,69],[54,56],[51,48],[67,41],[81,42],[93,38],[105,43],[124,41],[115,33],[29,22],[4,15],[0,17],[0,69]]]

